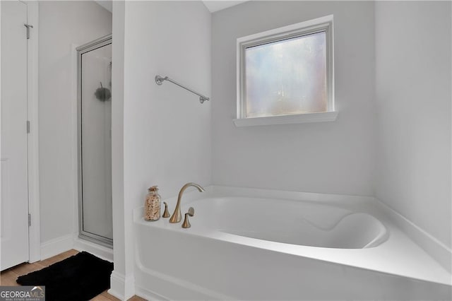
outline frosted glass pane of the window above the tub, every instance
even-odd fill
[[[326,33],[248,47],[246,117],[328,111]]]

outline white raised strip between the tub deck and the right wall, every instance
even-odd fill
[[[376,199],[376,198],[375,198]],[[423,230],[411,220],[405,218],[390,206],[386,205],[379,199],[376,199],[381,203],[382,207],[386,211],[386,214],[390,216],[400,230],[403,230],[408,237],[410,237],[416,244],[424,249],[427,254],[432,256],[443,268],[449,273],[452,273],[452,250],[446,247],[445,244],[437,240],[434,236],[430,235],[427,231]]]

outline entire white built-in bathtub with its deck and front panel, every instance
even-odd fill
[[[136,294],[152,300],[450,300],[451,274],[356,196],[209,187],[191,228],[134,211]],[[167,200],[170,211],[175,198]]]

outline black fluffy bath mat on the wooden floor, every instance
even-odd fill
[[[81,252],[17,278],[20,285],[45,285],[47,301],[85,301],[110,287],[113,264]]]

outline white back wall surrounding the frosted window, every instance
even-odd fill
[[[335,122],[236,128],[236,39],[334,15]],[[374,3],[249,1],[213,13],[213,183],[374,194]]]

